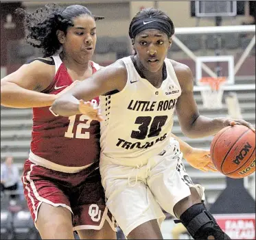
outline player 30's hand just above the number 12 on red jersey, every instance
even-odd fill
[[[79,111],[81,114],[84,114],[91,118],[92,120],[97,120],[102,122],[102,114],[100,108],[95,104],[89,102],[84,102],[82,99],[79,101]]]

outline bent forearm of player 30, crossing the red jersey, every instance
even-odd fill
[[[63,96],[60,96],[54,101],[51,110],[54,111],[55,114],[64,117],[81,114],[78,99],[71,94],[64,94]]]

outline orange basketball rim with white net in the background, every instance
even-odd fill
[[[209,88],[201,90],[203,107],[206,109],[221,109],[223,90],[222,84],[226,77],[202,77],[200,83],[209,85]]]

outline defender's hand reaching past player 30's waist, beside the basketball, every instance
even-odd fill
[[[187,152],[184,158],[193,168],[197,168],[202,172],[218,172],[211,161],[210,150],[191,148],[191,151]]]

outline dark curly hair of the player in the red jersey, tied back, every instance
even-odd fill
[[[73,18],[87,14],[97,20],[104,19],[103,16],[94,16],[91,11],[82,5],[69,5],[67,8],[60,8],[55,3],[45,5],[45,8],[38,8],[32,13],[24,9],[16,9],[17,14],[24,17],[25,40],[30,45],[43,49],[43,57],[54,55],[62,46],[56,34],[57,30],[67,34],[67,28],[73,26]]]

